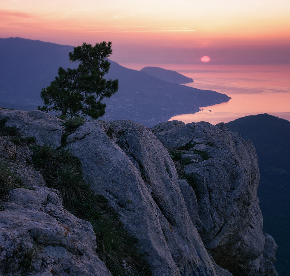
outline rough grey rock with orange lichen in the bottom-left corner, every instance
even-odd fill
[[[100,275],[111,273],[96,255],[89,222],[63,209],[57,190],[13,189],[0,211],[0,275]],[[25,255],[32,256],[29,263]]]

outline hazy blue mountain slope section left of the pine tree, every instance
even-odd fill
[[[0,38],[1,102],[42,103],[40,92],[57,75],[59,67],[72,67],[68,53],[72,46],[23,38]]]

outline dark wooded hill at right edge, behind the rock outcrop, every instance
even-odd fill
[[[279,276],[290,270],[290,122],[259,114],[227,123],[229,130],[240,132],[253,141],[259,158],[258,197],[264,218],[264,232],[278,245],[275,267]]]

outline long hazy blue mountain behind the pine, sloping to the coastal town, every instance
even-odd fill
[[[0,102],[4,103],[3,107],[8,108],[11,104],[42,105],[40,92],[54,80],[58,68],[77,67],[76,62],[71,63],[68,59],[70,51],[73,51],[73,46],[19,37],[1,38]],[[230,99],[225,94],[168,83],[110,62],[105,78],[118,78],[119,91],[104,100],[107,108],[103,118],[107,120],[129,119],[154,126],[175,115],[194,113],[201,106]]]

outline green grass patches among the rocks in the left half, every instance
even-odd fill
[[[57,189],[61,193],[63,206],[70,213],[91,223],[96,234],[96,253],[112,275],[150,276],[151,270],[138,240],[128,235],[108,200],[91,191],[91,182],[83,177],[81,162],[70,153],[69,148],[55,148],[53,144],[36,145],[34,137],[20,137],[16,128],[5,126],[6,121],[7,118],[0,120],[0,135],[8,136],[18,146],[31,144],[31,165],[43,175],[48,188]],[[66,133],[70,134],[83,122],[84,119],[76,117],[67,119],[63,126],[66,127]],[[7,199],[9,189],[19,187],[29,189],[22,184],[16,169],[12,169],[6,160],[0,159],[0,201]],[[128,199],[126,203],[131,202]],[[4,209],[0,202],[0,210]],[[28,274],[33,258],[38,254],[36,247],[25,247],[24,251],[20,263],[21,275]]]

